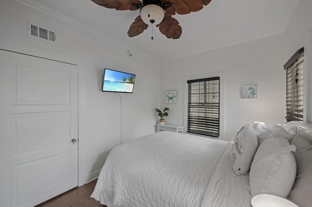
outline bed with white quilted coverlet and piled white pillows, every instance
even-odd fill
[[[311,144],[312,125],[296,121],[285,128],[279,124],[272,128],[263,123],[247,124],[234,141],[167,131],[138,138],[111,151],[91,197],[107,207],[251,207],[253,195],[270,193],[297,204],[299,200],[305,207],[312,200],[298,199],[302,173],[299,179],[296,147],[292,144],[299,140],[299,131],[300,140],[304,137]],[[283,150],[274,149],[275,145]],[[312,152],[312,147],[305,150]],[[272,162],[270,153],[281,163],[275,162],[265,172]],[[285,169],[289,173],[284,173]],[[304,176],[312,180],[311,168],[304,171]],[[275,177],[266,177],[263,172]],[[312,185],[304,185],[311,190]]]

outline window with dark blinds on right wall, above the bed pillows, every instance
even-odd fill
[[[286,121],[303,121],[303,48],[284,65],[286,69]]]

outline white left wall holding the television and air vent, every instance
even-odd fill
[[[27,20],[57,32],[57,44],[27,36]],[[2,0],[0,7],[0,38],[33,47],[81,58],[86,62],[86,174],[87,181],[98,176],[110,150],[155,132],[159,107],[158,61],[133,52],[45,15],[13,0]],[[0,46],[1,48],[1,46]],[[54,57],[50,57],[53,59]],[[102,92],[103,69],[136,74],[133,94]],[[122,123],[120,124],[120,122]],[[121,127],[121,128],[120,128]]]

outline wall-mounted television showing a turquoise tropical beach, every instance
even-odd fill
[[[132,93],[135,79],[135,74],[104,69],[102,91]]]

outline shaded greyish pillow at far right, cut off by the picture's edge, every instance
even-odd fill
[[[292,144],[296,146],[294,156],[297,162],[297,175],[288,199],[300,207],[312,205],[312,144],[297,134]]]

